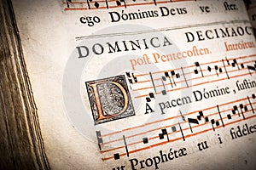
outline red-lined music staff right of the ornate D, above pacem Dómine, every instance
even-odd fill
[[[157,94],[167,93],[201,86],[202,84],[221,82],[237,77],[253,76],[256,73],[256,54],[227,58],[179,68],[135,74],[126,72],[135,99],[154,98]]]

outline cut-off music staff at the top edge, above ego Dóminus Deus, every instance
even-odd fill
[[[129,6],[139,5],[150,5],[160,3],[172,3],[172,2],[183,2],[183,1],[196,1],[196,0],[148,0],[148,1],[137,1],[137,0],[86,0],[86,1],[75,1],[66,0],[63,3],[66,5],[65,10],[90,10],[96,8],[127,8]]]

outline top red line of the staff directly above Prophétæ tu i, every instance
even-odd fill
[[[250,97],[251,99],[252,97]],[[227,102],[227,103],[224,103],[224,104],[221,104],[221,105],[218,105],[218,106],[224,106],[224,105],[230,105],[230,104],[234,104],[236,102],[240,102],[240,101],[243,101],[243,100],[247,100],[247,98],[242,98],[242,99],[236,99],[236,100],[233,100],[233,101],[230,101],[230,102]],[[216,108],[216,106],[212,106],[212,107],[207,107],[207,109],[203,109],[203,110],[200,110],[200,111],[208,111],[208,110],[211,110],[213,108]],[[188,115],[192,115],[192,114],[195,114],[195,113],[198,113],[199,111],[192,111],[192,112],[189,112],[189,113],[186,113],[184,114],[184,116],[188,116]],[[123,130],[120,130],[120,131],[116,131],[116,132],[113,132],[113,133],[107,133],[107,134],[102,134],[102,138],[104,137],[107,137],[107,136],[111,136],[113,134],[116,134],[116,133],[123,133],[125,131],[129,131],[129,130],[132,130],[132,129],[136,129],[138,127],[146,127],[148,125],[152,125],[154,123],[158,123],[158,122],[166,122],[166,121],[169,121],[171,119],[175,118],[174,117],[168,117],[166,119],[161,119],[161,120],[158,120],[158,121],[154,121],[154,122],[147,122],[147,123],[144,123],[143,125],[138,125],[136,127],[129,127],[129,128],[125,128]]]

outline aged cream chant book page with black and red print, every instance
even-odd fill
[[[52,169],[255,169],[240,0],[14,0]]]

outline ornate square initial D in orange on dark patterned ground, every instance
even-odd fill
[[[86,82],[96,124],[135,115],[124,76]]]

